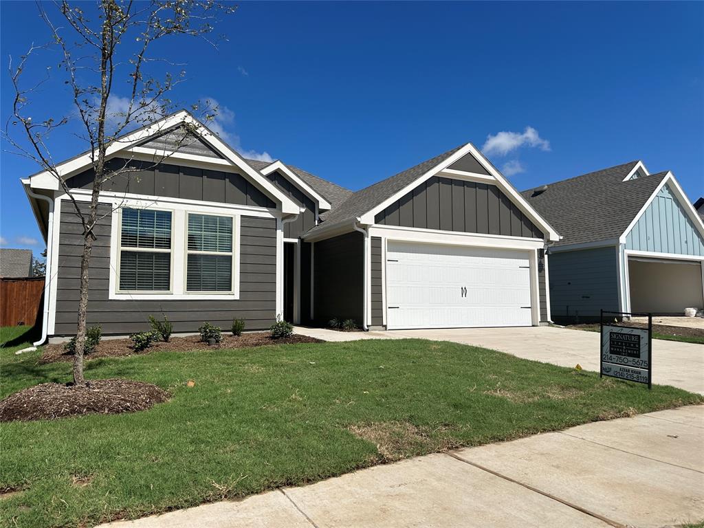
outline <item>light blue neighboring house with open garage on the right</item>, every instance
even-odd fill
[[[548,249],[555,321],[704,305],[704,223],[672,172],[631,161],[522,194],[562,235]]]

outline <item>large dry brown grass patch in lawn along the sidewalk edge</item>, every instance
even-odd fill
[[[444,427],[416,427],[408,422],[376,422],[351,425],[348,430],[360,439],[376,444],[383,462],[392,462],[417,453],[447,451],[458,446],[450,436],[433,436]]]

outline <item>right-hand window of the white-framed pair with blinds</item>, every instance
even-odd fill
[[[232,291],[232,217],[189,213],[186,291]]]

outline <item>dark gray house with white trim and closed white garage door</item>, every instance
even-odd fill
[[[367,327],[550,320],[558,233],[472,144],[356,193],[282,161],[247,160],[181,111],[108,150],[88,324],[104,334],[277,316]],[[45,335],[75,333],[90,153],[22,180],[48,246]]]

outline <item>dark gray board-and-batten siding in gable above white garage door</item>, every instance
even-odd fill
[[[543,238],[496,185],[431,177],[375,216],[382,225]]]

